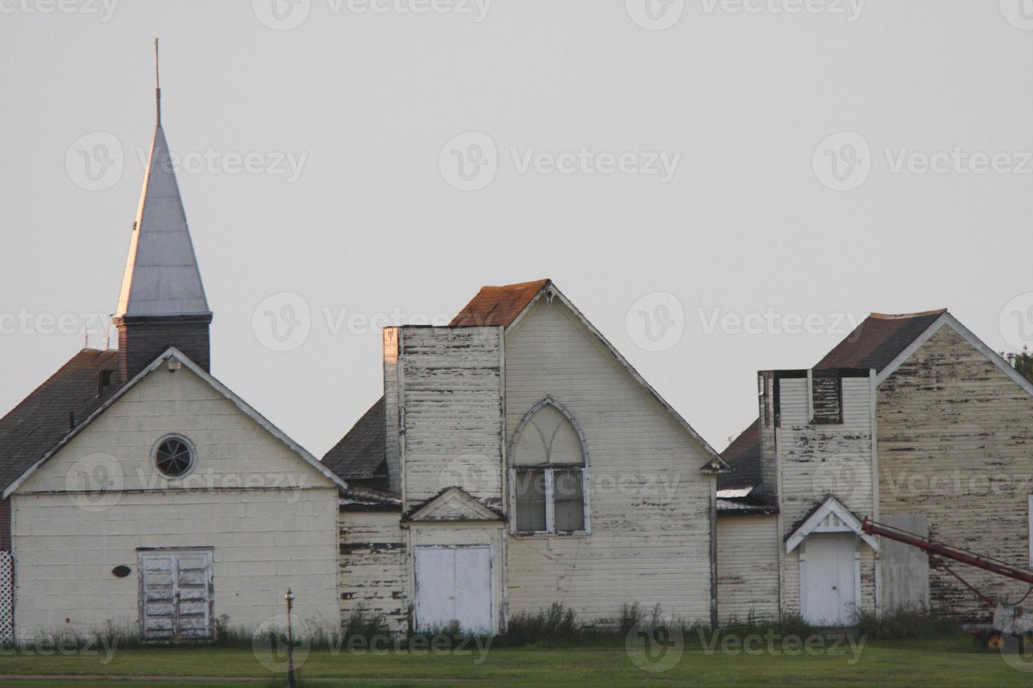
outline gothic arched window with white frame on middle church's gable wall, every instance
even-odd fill
[[[588,450],[573,417],[545,397],[524,416],[509,450],[518,533],[588,531]]]

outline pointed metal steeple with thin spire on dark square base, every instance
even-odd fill
[[[212,312],[161,127],[157,39],[154,59],[157,121],[114,318],[123,380],[134,375],[168,347],[178,348],[204,369],[210,367]]]

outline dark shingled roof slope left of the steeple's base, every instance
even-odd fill
[[[0,489],[7,489],[121,387],[118,352],[84,349],[0,419]],[[112,370],[101,388],[101,371]]]

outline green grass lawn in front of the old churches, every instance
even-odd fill
[[[481,654],[313,650],[301,662],[302,685],[449,686],[491,682],[501,686],[592,685],[629,686],[644,682],[717,686],[848,684],[917,686],[1002,686],[1033,684],[1033,671],[1013,668],[1000,654],[977,650],[967,637],[937,641],[844,644],[820,654],[789,654],[766,646],[745,654],[731,648],[708,652],[699,642],[687,642],[682,652],[668,650],[657,667],[640,654],[629,654],[623,642],[600,642],[581,648],[495,648]],[[636,661],[637,660],[637,663]],[[1013,661],[1021,661],[1013,658]],[[1033,669],[1033,664],[1029,665]],[[251,648],[144,648],[118,650],[105,659],[95,656],[10,654],[0,657],[6,686],[274,686],[282,677],[262,665]],[[72,676],[83,677],[71,680]],[[101,678],[101,677],[112,678]],[[96,677],[86,678],[86,677]],[[115,677],[130,677],[116,681]],[[133,679],[131,677],[140,677]],[[143,678],[148,677],[148,678]],[[151,677],[177,677],[153,679]],[[194,678],[190,678],[194,677]],[[216,678],[222,680],[217,683]]]

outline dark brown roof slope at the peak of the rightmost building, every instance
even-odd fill
[[[875,368],[881,372],[944,313],[946,308],[903,316],[873,313],[814,367]]]

